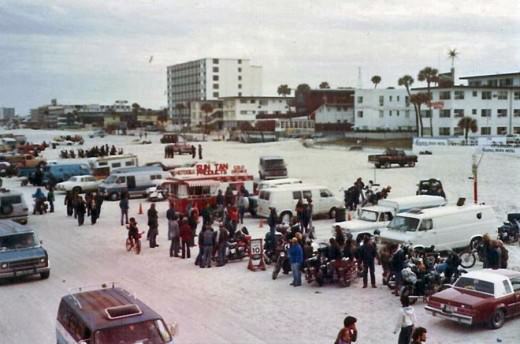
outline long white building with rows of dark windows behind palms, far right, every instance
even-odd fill
[[[458,127],[462,117],[476,119],[475,135],[520,134],[520,73],[460,78],[468,85],[434,87],[432,126],[434,136],[463,135]],[[414,88],[413,92],[426,92]],[[430,132],[429,110],[422,106],[424,133]]]

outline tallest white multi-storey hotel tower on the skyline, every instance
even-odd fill
[[[204,58],[168,66],[166,73],[168,111],[177,123],[189,123],[191,101],[262,94],[262,67],[248,59]]]

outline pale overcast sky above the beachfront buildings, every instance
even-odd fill
[[[370,88],[373,75],[397,87],[425,66],[448,71],[449,49],[457,76],[519,72],[518,18],[518,0],[0,0],[0,107],[160,108],[166,67],[203,57],[261,65],[263,95]]]

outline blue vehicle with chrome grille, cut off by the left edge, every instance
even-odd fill
[[[49,278],[47,251],[34,230],[11,220],[0,220],[0,278],[39,274]]]

